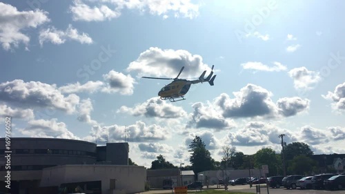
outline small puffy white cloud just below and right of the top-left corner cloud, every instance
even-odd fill
[[[79,34],[76,28],[71,24],[65,31],[57,30],[55,27],[47,28],[39,32],[39,43],[43,46],[45,41],[50,41],[54,44],[65,43],[66,40],[79,41],[79,43],[92,43],[92,39],[86,33]]]

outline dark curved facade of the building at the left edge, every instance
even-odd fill
[[[5,139],[0,138],[0,145],[5,148]],[[1,149],[0,147],[0,149]],[[73,139],[55,138],[11,138],[11,169],[12,171],[40,170],[46,166],[65,164],[95,164],[96,144]],[[1,171],[6,162],[0,156]]]

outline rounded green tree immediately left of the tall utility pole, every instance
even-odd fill
[[[262,165],[268,165],[268,175],[277,175],[277,157],[275,151],[271,148],[262,148],[255,153],[255,166],[262,168]]]

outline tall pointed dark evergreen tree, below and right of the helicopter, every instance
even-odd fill
[[[206,144],[201,137],[195,136],[189,145],[190,164],[192,164],[195,175],[202,171],[213,170],[215,160],[211,157],[210,151],[206,149]]]

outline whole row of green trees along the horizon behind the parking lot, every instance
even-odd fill
[[[201,137],[195,136],[189,145],[190,164],[181,167],[183,171],[194,171],[195,174],[202,171],[223,170],[223,169],[248,169],[262,168],[268,165],[268,176],[283,175],[282,153],[275,153],[272,148],[262,148],[253,155],[245,155],[237,151],[235,146],[224,146],[221,161],[216,161],[206,149],[206,144]],[[311,158],[313,151],[303,142],[293,142],[284,146],[284,157],[286,161],[286,175],[299,174],[311,175],[319,173],[319,164]],[[130,160],[130,162],[135,164]],[[152,161],[150,169],[179,168],[166,161],[163,155],[157,156]],[[136,164],[135,164],[136,165]]]

